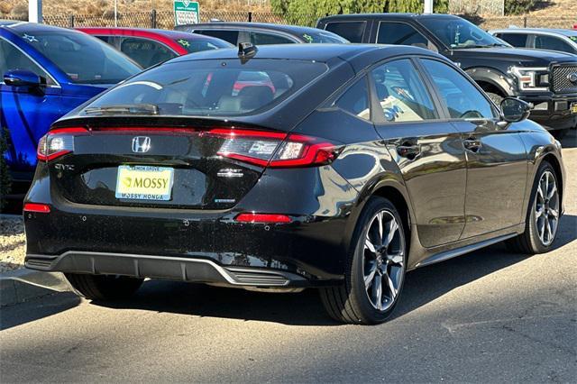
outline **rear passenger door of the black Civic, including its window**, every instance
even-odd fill
[[[464,227],[466,160],[461,134],[439,110],[422,69],[395,59],[371,70],[375,127],[397,161],[425,247],[455,242]]]

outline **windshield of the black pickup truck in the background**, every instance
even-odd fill
[[[507,47],[503,41],[481,30],[464,19],[426,18],[421,20],[426,29],[432,32],[447,47],[453,50],[483,47]]]

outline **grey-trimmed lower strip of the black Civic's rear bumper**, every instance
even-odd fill
[[[260,288],[304,288],[311,283],[287,271],[246,267],[222,267],[206,259],[66,251],[60,255],[26,255],[25,266],[32,270],[122,275],[133,278],[175,279],[186,282]]]

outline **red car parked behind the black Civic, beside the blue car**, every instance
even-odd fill
[[[231,48],[231,44],[210,36],[177,31],[141,28],[78,28],[112,45],[149,68],[162,61],[202,50]]]

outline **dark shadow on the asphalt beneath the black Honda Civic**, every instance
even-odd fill
[[[555,248],[575,241],[577,216],[564,215]],[[504,244],[475,251],[450,261],[411,271],[407,274],[403,297],[393,318],[406,315],[420,306],[476,279],[508,268],[530,256],[512,253]],[[266,321],[285,325],[340,325],[325,314],[315,289],[301,293],[261,293],[235,288],[216,288],[174,281],[146,281],[129,300],[92,301],[93,305],[117,309],[141,309],[202,317]]]

